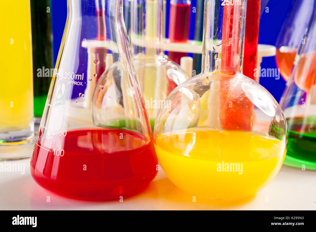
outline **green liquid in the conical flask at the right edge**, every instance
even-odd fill
[[[316,117],[287,119],[288,150],[284,164],[316,170]]]

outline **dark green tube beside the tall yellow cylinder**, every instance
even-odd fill
[[[53,74],[50,0],[31,0],[35,123],[40,123]]]

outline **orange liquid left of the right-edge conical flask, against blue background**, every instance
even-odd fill
[[[284,80],[288,80],[293,67],[297,48],[281,47],[276,50],[276,65]]]

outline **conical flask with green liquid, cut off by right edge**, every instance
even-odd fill
[[[284,164],[316,170],[316,6],[307,30],[306,43],[280,100],[289,128],[289,147]]]

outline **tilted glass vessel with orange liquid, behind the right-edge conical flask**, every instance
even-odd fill
[[[289,79],[298,48],[304,41],[315,0],[292,0],[291,9],[276,39],[276,65],[284,80]]]

